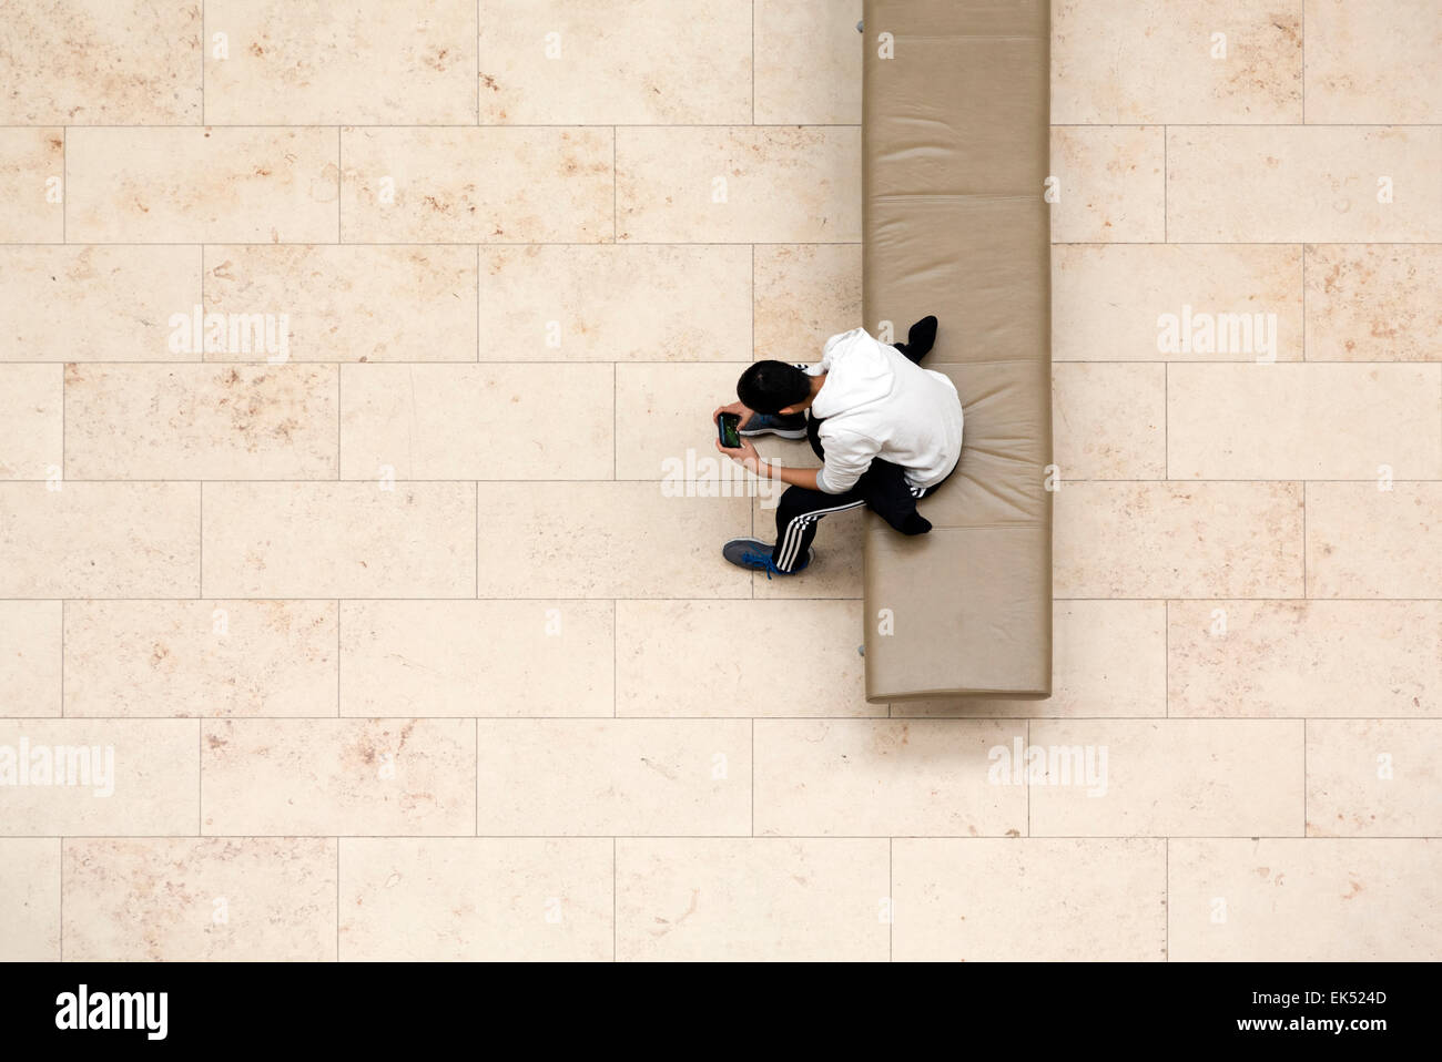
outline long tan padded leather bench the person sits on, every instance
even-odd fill
[[[867,516],[867,699],[1047,697],[1048,0],[867,0],[862,39],[865,321],[936,314],[965,411],[933,530]]]

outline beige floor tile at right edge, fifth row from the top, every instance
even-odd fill
[[[1442,597],[1442,483],[1306,484],[1306,597]]]

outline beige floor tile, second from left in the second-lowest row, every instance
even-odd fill
[[[469,719],[202,722],[202,833],[410,836],[476,829]]]

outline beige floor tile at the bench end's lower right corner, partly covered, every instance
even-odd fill
[[[893,716],[1031,719],[1167,715],[1167,605],[1057,601],[1051,611],[1051,696],[1045,700],[906,700]]]

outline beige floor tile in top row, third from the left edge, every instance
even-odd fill
[[[480,122],[751,121],[751,12],[731,0],[486,0]]]

